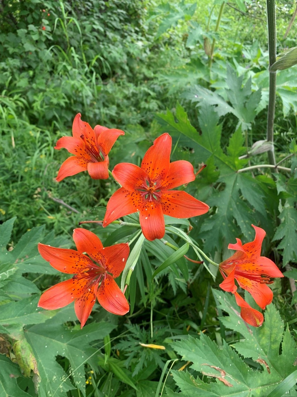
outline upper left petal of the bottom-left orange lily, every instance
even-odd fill
[[[82,270],[92,265],[88,256],[80,254],[73,249],[55,248],[39,243],[38,251],[42,258],[48,261],[53,268],[62,273],[80,273]]]

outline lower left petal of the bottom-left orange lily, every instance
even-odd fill
[[[41,295],[38,306],[47,310],[67,306],[67,304],[73,302],[74,298],[76,298],[77,291],[74,289],[76,285],[77,280],[72,280],[72,278],[53,285],[53,287],[50,287]]]

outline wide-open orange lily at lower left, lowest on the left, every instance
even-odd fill
[[[38,244],[38,251],[53,268],[72,278],[45,291],[38,306],[52,310],[74,301],[74,310],[81,328],[86,323],[96,301],[105,310],[120,316],[129,311],[129,304],[114,278],[124,270],[129,255],[128,244],[103,247],[99,237],[86,229],[74,229],[77,251]],[[88,256],[83,254],[86,252]],[[95,262],[95,263],[94,263]],[[101,282],[100,286],[99,283]]]

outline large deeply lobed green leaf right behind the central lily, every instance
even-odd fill
[[[241,129],[238,128],[230,137],[226,154],[221,148],[221,125],[213,106],[205,102],[200,106],[198,121],[201,134],[190,124],[187,113],[179,104],[175,116],[168,110],[166,115],[158,114],[157,119],[164,131],[178,139],[179,145],[192,148],[196,161],[208,164],[208,159],[211,159],[220,173],[219,178],[215,175],[220,182],[219,189],[216,192],[209,190],[209,197],[203,197],[216,210],[207,214],[207,222],[206,216],[201,217],[203,221],[194,220],[196,224],[201,222],[198,237],[205,240],[204,248],[208,252],[220,249],[224,239],[230,243],[240,235],[240,231],[246,239],[252,239],[250,225],[255,222],[254,212],[257,211],[263,218],[267,218],[267,214],[261,181],[238,173],[247,164],[247,159],[239,159],[245,150]],[[199,195],[199,183],[197,187]],[[216,230],[215,234],[213,230]]]

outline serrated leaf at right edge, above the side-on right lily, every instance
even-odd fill
[[[283,250],[283,266],[297,260],[297,211],[295,200],[288,198],[278,216],[281,224],[276,228],[273,241],[282,240],[277,248]]]

